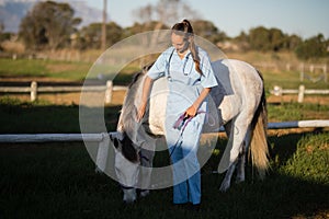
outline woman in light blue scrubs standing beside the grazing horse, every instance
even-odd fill
[[[141,119],[152,81],[167,77],[169,95],[166,111],[166,140],[173,164],[173,204],[201,204],[197,148],[207,111],[207,95],[217,85],[211,60],[194,44],[188,20],[171,28],[172,46],[163,51],[144,81],[137,119]]]

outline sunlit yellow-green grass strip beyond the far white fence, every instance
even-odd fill
[[[291,70],[286,70],[284,67],[281,69],[271,69],[265,67],[258,67],[259,70],[263,73],[265,88],[266,90],[272,89],[274,85],[283,87],[284,89],[298,89],[299,84],[299,65],[303,62],[297,60],[294,54],[290,53],[279,53],[279,54],[261,54],[256,51],[250,53],[239,53],[239,54],[227,54],[228,58],[237,58],[245,60],[251,65],[269,64],[276,66],[285,66],[291,64],[294,66]],[[97,56],[93,57],[90,61],[60,61],[60,60],[41,60],[41,59],[0,59],[0,80],[5,78],[22,78],[26,80],[29,78],[49,78],[53,80],[65,80],[65,81],[83,81],[88,76],[89,71],[92,69],[93,61],[97,61]],[[141,58],[143,59],[143,58]],[[128,83],[134,72],[139,71],[141,60],[135,60],[127,64],[117,74],[116,83]],[[328,60],[321,60],[320,64],[328,65]],[[98,71],[97,68],[103,68],[102,65],[95,65],[94,71]],[[104,68],[99,70],[99,73],[103,71],[111,71],[111,65],[105,65]],[[113,68],[115,68],[113,66]],[[319,70],[318,70],[319,71]],[[306,70],[307,72],[307,70]],[[90,72],[91,73],[91,72]],[[310,73],[310,72],[307,72]],[[319,74],[319,72],[315,72]],[[98,77],[88,76],[88,77]],[[307,89],[329,89],[329,84],[325,83],[324,80],[315,83],[310,80],[304,80],[303,84]]]

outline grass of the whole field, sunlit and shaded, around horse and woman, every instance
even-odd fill
[[[277,60],[271,55],[266,58]],[[252,57],[250,62],[253,62]],[[77,82],[83,80],[91,65],[0,59],[0,79]],[[127,83],[136,69],[136,66],[125,68],[117,82]],[[266,70],[263,74],[266,90],[277,83],[291,89],[299,85],[297,71]],[[324,82],[307,81],[305,85],[329,89]],[[120,104],[103,108],[109,131],[115,130],[120,108]],[[318,104],[316,97],[303,104],[279,101],[269,104],[268,110],[269,122],[329,119],[329,103]],[[30,103],[2,95],[0,124],[0,134],[80,132],[79,105],[75,102],[60,105],[46,99]],[[94,124],[95,132],[100,131],[98,127]],[[0,219],[329,218],[329,132],[326,129],[310,131],[314,130],[271,132],[271,170],[266,178],[259,181],[248,164],[247,181],[234,184],[227,193],[218,191],[224,175],[212,173],[217,170],[227,141],[219,137],[216,147],[219,153],[214,153],[202,169],[203,204],[198,214],[172,206],[172,188],[154,191],[135,205],[123,205],[117,183],[94,173],[94,163],[82,142],[0,143]],[[156,165],[164,165],[161,162],[168,160],[166,155],[157,153]]]

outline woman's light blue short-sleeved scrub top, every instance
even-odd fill
[[[154,80],[160,77],[168,78],[170,91],[167,102],[167,117],[181,115],[194,103],[204,88],[217,85],[208,55],[201,47],[196,47],[196,49],[202,74],[195,70],[191,51],[189,50],[185,57],[181,59],[174,47],[163,51],[147,72],[147,76]],[[198,111],[207,111],[206,102],[207,100],[204,101]]]

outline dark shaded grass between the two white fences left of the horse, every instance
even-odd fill
[[[93,112],[104,111],[105,127],[109,131],[116,129],[118,113],[122,106],[112,105],[104,108],[84,107],[89,114],[87,120],[93,120]],[[81,132],[79,124],[79,105],[49,105],[45,103],[18,102],[0,103],[1,134],[49,134]],[[101,123],[92,123],[93,132],[101,132]]]

